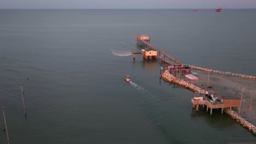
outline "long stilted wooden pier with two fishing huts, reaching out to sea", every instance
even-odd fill
[[[152,49],[152,50],[156,51],[156,55],[152,55],[151,58],[149,58],[149,59],[152,59],[152,58],[156,59],[157,58],[157,59],[161,59],[161,62],[164,62],[166,64],[180,64],[180,62],[176,58],[168,55],[168,53],[166,53],[166,52],[156,48],[152,44],[150,44],[150,38],[149,38],[148,35],[139,35],[139,34],[137,34],[137,45],[146,46],[146,47],[148,47],[148,49]],[[141,53],[134,52],[133,53],[133,59],[135,59],[136,54],[142,54],[144,56],[144,58],[148,59],[148,56],[146,56],[144,53],[146,53],[146,52],[143,52],[143,51]]]

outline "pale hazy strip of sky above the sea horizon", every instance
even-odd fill
[[[256,8],[256,0],[0,0],[0,9]]]

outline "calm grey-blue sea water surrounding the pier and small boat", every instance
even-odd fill
[[[0,106],[10,142],[255,143],[227,115],[193,111],[193,93],[160,81],[159,62],[110,51],[140,51],[138,32],[183,63],[255,75],[255,15],[255,9],[0,10]],[[0,141],[7,143],[4,132]]]

